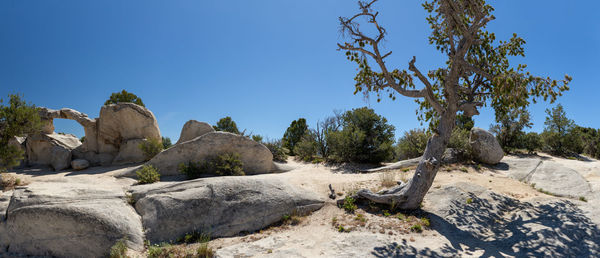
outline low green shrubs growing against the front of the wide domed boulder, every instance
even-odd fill
[[[179,164],[179,172],[189,179],[202,176],[243,176],[243,162],[237,153],[222,153],[201,162]]]

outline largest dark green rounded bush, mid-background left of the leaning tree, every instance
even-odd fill
[[[342,115],[342,129],[328,136],[332,161],[380,163],[394,156],[394,126],[370,108]]]

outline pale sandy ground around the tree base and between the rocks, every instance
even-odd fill
[[[520,201],[566,199],[576,203],[595,223],[600,224],[597,217],[599,213],[597,207],[600,207],[600,162],[542,156],[546,160],[552,160],[577,170],[589,182],[592,189],[590,195],[586,196],[588,201],[583,202],[573,198],[560,198],[544,194],[527,183],[509,177],[508,173],[502,169],[477,165],[457,164],[443,167],[435,178],[432,190],[468,182]],[[509,156],[507,158],[517,157]],[[384,179],[387,181],[390,178],[407,180],[412,177],[414,172],[414,169],[410,169],[408,171],[395,170],[360,174],[349,168],[309,164],[293,159],[289,159],[287,165],[294,169],[271,176],[323,196],[329,195],[328,185],[331,184],[339,194],[338,199],[342,198],[342,195],[360,188],[382,189],[384,187],[382,182],[386,181]],[[26,183],[73,180],[82,183],[112,184],[126,190],[135,183],[135,180],[115,178],[113,175],[123,174],[135,168],[96,167],[80,172],[60,173],[32,169],[11,174],[18,176]],[[429,204],[425,201],[423,211],[427,212],[429,208]],[[357,214],[361,214],[360,216],[364,218],[363,223],[357,219]],[[274,226],[244,236],[215,239],[209,245],[216,250],[219,257],[390,257],[438,256],[440,254],[440,256],[481,256],[485,253],[484,248],[461,248],[460,244],[457,248],[456,243],[452,243],[448,236],[440,234],[435,227],[426,229],[422,233],[412,232],[409,227],[419,220],[419,214],[407,215],[408,220],[398,219],[397,215],[392,214],[385,217],[382,212],[365,212],[362,209],[355,214],[348,214],[339,209],[334,200],[327,199],[322,209],[300,218],[298,225]],[[351,229],[350,232],[339,232],[340,225]],[[443,252],[439,252],[451,245],[454,245],[452,253],[444,255]],[[193,249],[196,246],[190,245],[185,248]],[[402,250],[402,253],[398,253],[398,250]],[[134,252],[130,254],[144,256]]]

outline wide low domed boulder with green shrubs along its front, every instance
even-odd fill
[[[148,164],[155,166],[161,175],[179,175],[179,164],[203,161],[224,152],[238,153],[247,175],[274,171],[273,154],[267,147],[248,137],[227,132],[207,133],[175,144],[156,155]]]

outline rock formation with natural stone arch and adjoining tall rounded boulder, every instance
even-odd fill
[[[90,165],[111,165],[143,162],[138,148],[146,139],[161,139],[154,114],[133,103],[102,106],[100,117],[89,118],[79,111],[63,108],[40,108],[44,123],[41,134],[27,138],[30,165],[51,165],[55,170],[68,168],[71,159],[85,159]],[[71,119],[83,126],[83,144],[74,136],[54,133],[54,119]]]

